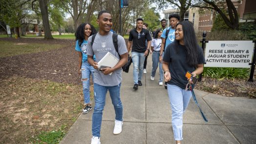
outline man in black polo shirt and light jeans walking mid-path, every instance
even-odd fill
[[[133,89],[135,90],[138,89],[138,86],[142,85],[141,78],[143,74],[145,56],[148,55],[151,45],[149,30],[142,28],[142,26],[143,19],[138,18],[136,20],[136,28],[130,31],[128,40],[128,52],[130,51],[132,41],[131,59],[133,63]],[[148,43],[147,46],[146,40]]]

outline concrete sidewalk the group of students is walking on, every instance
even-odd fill
[[[149,56],[148,73],[136,91],[132,89],[132,64],[129,73],[123,73],[124,124],[119,135],[113,135],[115,112],[107,93],[102,144],[175,144],[167,90],[158,85],[158,70],[155,80],[150,80],[151,67]],[[229,98],[200,90],[195,90],[195,95],[209,122],[204,122],[191,99],[183,117],[182,144],[256,144],[256,99]],[[92,113],[81,114],[60,144],[90,144]]]

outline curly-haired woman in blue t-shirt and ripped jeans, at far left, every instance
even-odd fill
[[[81,78],[82,76],[82,83],[83,83],[83,93],[84,93],[84,105],[85,108],[83,109],[83,114],[89,112],[92,109],[90,103],[90,75],[94,74],[94,68],[87,62],[87,54],[86,54],[86,47],[87,47],[87,40],[88,38],[96,34],[97,31],[95,30],[94,26],[90,23],[82,23],[76,30],[76,48],[75,50],[78,51],[79,59],[78,59],[78,74]],[[95,59],[95,56],[94,56]]]

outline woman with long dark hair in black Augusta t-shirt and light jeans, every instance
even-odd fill
[[[181,144],[183,113],[188,107],[192,92],[186,90],[191,79],[185,77],[186,72],[193,77],[203,72],[205,62],[202,48],[197,44],[193,25],[190,21],[181,21],[176,25],[175,41],[168,45],[163,70],[168,82],[168,96],[172,111],[172,129],[176,144]]]

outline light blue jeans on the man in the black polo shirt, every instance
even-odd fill
[[[142,74],[143,74],[145,54],[131,52],[131,59],[133,63],[133,82],[134,84],[138,84],[138,81],[141,81]]]

